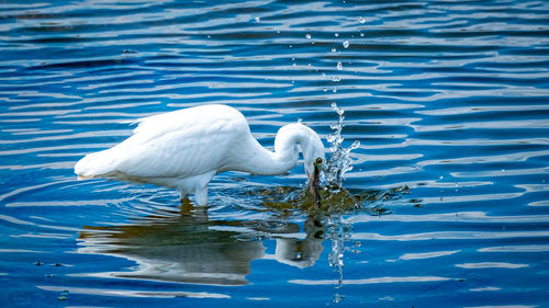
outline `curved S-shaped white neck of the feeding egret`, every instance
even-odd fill
[[[315,133],[302,124],[285,125],[279,129],[274,139],[274,152],[265,149],[251,138],[250,141],[254,145],[245,148],[253,149],[244,156],[246,159],[243,160],[242,168],[238,170],[262,175],[285,173],[298,164],[298,145],[302,151],[307,149],[312,134]]]

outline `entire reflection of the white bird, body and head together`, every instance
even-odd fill
[[[323,249],[324,226],[317,221],[311,228],[307,224],[306,238],[298,240],[283,237],[299,231],[295,224],[210,220],[205,209],[184,204],[180,214],[149,216],[133,225],[83,227],[78,251],[121,256],[138,264],[128,272],[100,275],[242,285],[247,284],[251,261],[266,256],[259,240],[266,233],[277,239],[273,259],[278,262],[298,267],[313,265]]]

